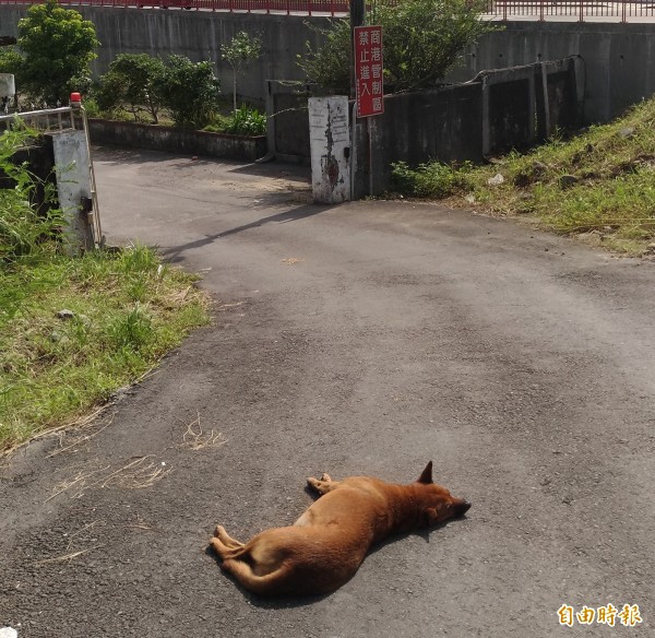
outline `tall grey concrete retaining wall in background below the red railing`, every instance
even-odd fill
[[[302,80],[297,56],[305,42],[318,42],[307,24],[327,19],[294,15],[229,14],[207,11],[163,11],[76,7],[96,25],[103,44],[94,71],[102,73],[121,52],[177,52],[194,61],[213,60],[224,92],[229,95],[229,68],[221,60],[221,45],[238,31],[259,34],[263,56],[246,71],[239,93],[263,104],[265,80]],[[16,35],[26,8],[0,5],[2,35]],[[484,36],[465,51],[464,67],[451,82],[473,79],[479,71],[581,56],[586,68],[584,120],[604,122],[627,106],[655,93],[655,24],[598,22],[509,22],[504,31]]]

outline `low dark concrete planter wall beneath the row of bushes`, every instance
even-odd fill
[[[95,118],[88,120],[88,134],[94,144],[116,144],[246,162],[254,162],[266,154],[265,135],[248,138]]]

